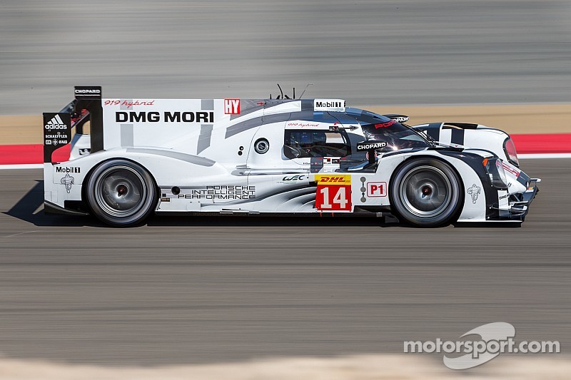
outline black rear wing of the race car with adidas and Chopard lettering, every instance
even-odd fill
[[[56,150],[71,143],[71,130],[84,133],[84,125],[91,123],[91,152],[103,150],[103,108],[100,86],[76,86],[75,99],[58,113],[44,113],[44,163],[53,163]],[[55,160],[57,161],[57,160]]]

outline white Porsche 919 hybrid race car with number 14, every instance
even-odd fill
[[[340,99],[75,93],[61,112],[44,113],[45,210],[113,226],[151,212],[520,223],[540,182],[518,168],[510,136],[483,125],[408,126],[405,115]],[[69,160],[56,162],[70,145]]]

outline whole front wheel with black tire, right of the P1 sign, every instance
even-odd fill
[[[420,227],[448,225],[458,219],[463,190],[455,170],[440,160],[405,161],[390,181],[390,205],[403,222]]]

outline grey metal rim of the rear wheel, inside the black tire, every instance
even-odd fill
[[[95,183],[97,204],[114,217],[128,217],[141,210],[147,195],[143,177],[128,166],[113,166]]]

